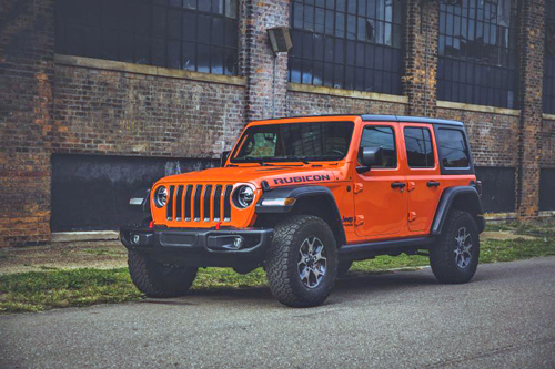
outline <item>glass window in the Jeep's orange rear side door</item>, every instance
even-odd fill
[[[405,127],[406,157],[410,167],[434,167],[432,134],[428,129]]]

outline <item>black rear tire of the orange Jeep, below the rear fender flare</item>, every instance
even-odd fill
[[[470,257],[463,256],[466,263],[461,262],[462,258],[457,255],[457,248],[464,249],[465,246],[468,246],[466,244],[460,247],[457,242],[463,232],[468,235],[465,242],[470,240],[472,244]],[[443,232],[430,253],[430,265],[434,276],[443,284],[467,283],[476,273],[478,259],[480,235],[474,218],[466,212],[451,211],[443,226]]]

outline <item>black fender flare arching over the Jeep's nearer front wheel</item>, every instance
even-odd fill
[[[295,198],[295,203],[291,205],[283,205],[283,199],[285,198]],[[261,198],[256,203],[255,212],[256,214],[291,213],[301,198],[311,198],[313,201],[322,199],[327,202],[327,205],[330,205],[330,207],[332,208],[332,219],[335,223],[332,226],[335,226],[335,228],[340,233],[337,235],[340,240],[337,247],[345,245],[346,236],[345,229],[343,228],[343,223],[341,222],[342,218],[340,209],[337,207],[337,204],[335,203],[335,198],[333,197],[332,192],[327,187],[304,185],[278,187],[271,191],[266,191],[262,194]]]

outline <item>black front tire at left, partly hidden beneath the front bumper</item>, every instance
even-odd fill
[[[163,265],[148,255],[133,250],[128,255],[129,274],[133,284],[149,297],[175,297],[188,293],[198,267]]]

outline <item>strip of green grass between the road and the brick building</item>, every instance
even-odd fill
[[[490,239],[482,243],[481,263],[511,262],[536,256],[555,255],[555,227],[504,226],[535,239]],[[356,262],[351,270],[376,273],[394,268],[428,265],[425,256],[379,256]],[[193,290],[265,286],[265,273],[258,268],[240,275],[231,268],[199,270]],[[30,271],[0,276],[0,312],[43,311],[52,308],[132,301],[144,296],[131,283],[127,268]]]

